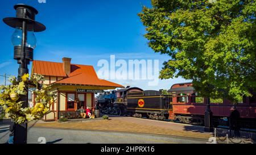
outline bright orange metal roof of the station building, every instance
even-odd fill
[[[63,70],[63,64],[60,62],[34,60],[32,65],[32,74],[33,73],[42,74],[43,76],[67,77]],[[71,64],[71,73],[67,78],[54,83],[123,87],[117,83],[99,79],[93,66],[76,64]]]

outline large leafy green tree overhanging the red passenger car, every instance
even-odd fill
[[[161,79],[192,79],[203,97],[235,103],[256,88],[254,0],[152,0],[139,17],[155,52],[167,54]],[[255,89],[256,90],[256,89]]]

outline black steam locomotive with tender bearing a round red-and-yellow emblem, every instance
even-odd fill
[[[168,119],[171,110],[171,95],[163,95],[162,90],[143,91],[138,87],[104,92],[97,98],[103,114],[146,116],[151,119]]]

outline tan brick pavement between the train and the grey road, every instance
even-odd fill
[[[192,137],[196,139],[209,139],[209,137],[212,136],[212,133],[206,133],[203,131],[203,127],[196,125],[162,122],[156,120],[129,117],[110,117],[110,120],[90,119],[89,121],[70,121],[68,123],[38,122],[30,123],[29,125],[32,124],[34,127],[152,133],[159,135]]]

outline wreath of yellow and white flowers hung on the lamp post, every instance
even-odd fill
[[[11,85],[0,86],[0,106],[3,106],[5,118],[13,119],[15,123],[28,123],[32,120],[42,119],[51,104],[55,102],[55,95],[50,91],[51,87],[41,84],[43,76],[34,74],[28,79],[29,74],[22,76],[22,81],[11,77]],[[23,101],[19,101],[22,95],[27,95],[28,87],[35,87],[35,106],[23,107]]]

